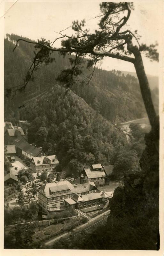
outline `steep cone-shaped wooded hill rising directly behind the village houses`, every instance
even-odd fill
[[[113,164],[127,144],[123,133],[73,92],[54,84],[42,98],[19,111],[28,120],[29,143],[57,154],[59,171],[78,176],[83,166]]]

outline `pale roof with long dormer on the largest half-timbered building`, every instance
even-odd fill
[[[61,187],[62,187],[62,189],[61,189]],[[63,181],[53,182],[53,183],[46,183],[41,188],[39,188],[39,191],[43,190],[44,195],[46,197],[52,197],[52,196],[54,196],[54,195],[51,195],[52,190],[54,192],[56,192],[56,191],[61,191],[61,190],[65,190],[65,189],[70,189],[70,192],[66,192],[61,195],[75,192],[74,186],[68,180],[63,180]]]

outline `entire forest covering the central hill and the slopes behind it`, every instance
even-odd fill
[[[32,46],[21,43],[18,51],[12,53],[18,36],[8,35],[7,38],[4,44],[5,89],[10,93],[11,87],[23,81],[32,58]],[[68,58],[56,54],[55,62],[43,65],[25,92],[18,92],[12,100],[7,94],[6,120],[13,124],[19,119],[27,120],[23,129],[28,128],[29,143],[43,147],[49,155],[57,154],[58,170],[65,169],[67,175],[78,177],[84,165],[94,163],[115,164],[117,170],[118,155],[123,163],[127,152],[129,162],[139,168],[144,141],[140,145],[137,141],[129,145],[123,132],[115,127],[116,122],[145,115],[137,79],[121,75],[121,71],[96,69],[90,84],[86,84],[84,75],[91,72],[86,68],[86,74],[79,76],[72,88],[66,89],[56,81],[65,65],[69,65]]]

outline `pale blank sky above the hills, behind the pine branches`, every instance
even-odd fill
[[[11,0],[10,0],[11,2]],[[93,31],[97,27],[100,14],[99,2],[55,2],[55,1],[17,1],[15,4],[5,1],[5,34],[13,33],[33,40],[44,37],[51,41],[59,35],[56,32],[69,27],[73,20],[86,20],[86,25]],[[12,6],[12,7],[11,7]],[[155,11],[154,11],[155,10]],[[129,28],[138,30],[141,43],[155,43],[159,39],[160,24],[159,2],[135,2],[135,11],[131,12]],[[67,30],[70,33],[70,30]],[[56,44],[56,46],[59,46]],[[147,74],[158,76],[158,63],[144,58]],[[117,69],[134,71],[134,66],[121,60],[106,57],[101,66],[107,70]]]

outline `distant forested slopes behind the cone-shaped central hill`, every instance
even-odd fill
[[[55,61],[49,65],[43,63],[40,70],[35,72],[34,81],[29,82],[26,90],[16,91],[14,97],[13,94],[10,96],[10,89],[13,87],[18,89],[23,83],[35,50],[33,44],[20,42],[19,47],[12,52],[15,40],[18,38],[20,36],[7,35],[4,40],[4,87],[7,96],[5,117],[9,117],[11,113],[17,116],[19,107],[48,92],[56,84],[61,70],[71,65],[70,56],[64,58],[53,52],[51,58],[55,58]],[[77,77],[71,89],[102,116],[113,124],[146,116],[137,78],[129,74],[125,76],[116,70],[105,71],[96,68],[90,83],[87,84],[86,77],[91,74],[93,68],[87,69],[85,61],[83,66],[83,74]]]

